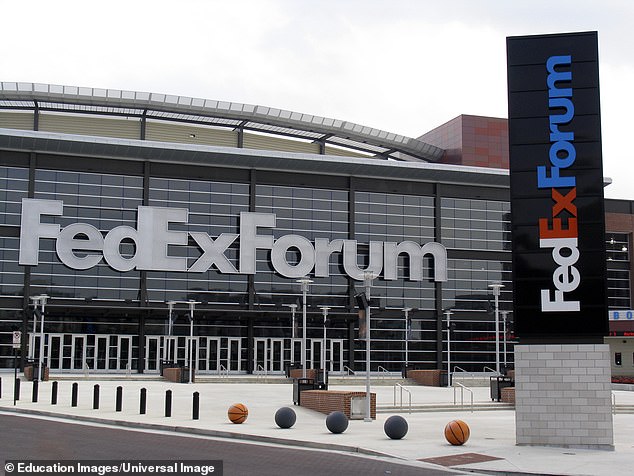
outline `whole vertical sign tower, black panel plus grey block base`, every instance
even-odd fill
[[[507,38],[517,444],[613,448],[596,32]]]

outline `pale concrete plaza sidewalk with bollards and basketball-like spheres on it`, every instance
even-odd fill
[[[515,445],[515,412],[513,410],[474,411],[469,405],[456,405],[452,411],[407,413],[394,409],[392,386],[373,386],[377,407],[391,407],[393,412],[377,414],[377,420],[352,420],[342,434],[332,434],[325,426],[325,415],[293,406],[292,384],[284,379],[253,379],[253,383],[194,383],[174,384],[151,378],[125,377],[120,380],[76,380],[58,382],[58,403],[51,405],[52,382],[41,382],[39,402],[33,403],[32,383],[21,382],[21,399],[13,405],[13,374],[1,373],[2,398],[0,410],[39,413],[117,426],[164,429],[207,436],[260,441],[271,444],[312,447],[331,450],[387,455],[409,462],[433,462],[453,469],[503,474],[548,475],[630,475],[634,462],[632,429],[634,414],[614,415],[615,451],[582,450]],[[64,376],[68,378],[68,376]],[[92,377],[98,378],[98,377]],[[104,376],[105,378],[105,376]],[[109,377],[108,377],[109,378]],[[78,405],[71,407],[72,383],[78,383]],[[279,382],[279,383],[271,383]],[[100,408],[93,409],[93,387],[100,386]],[[123,388],[123,407],[115,411],[116,388]],[[140,389],[147,390],[147,414],[139,414]],[[331,386],[337,390],[365,391],[359,385]],[[413,406],[453,404],[451,388],[410,386]],[[172,390],[172,416],[164,416],[165,392]],[[474,403],[490,404],[488,387],[476,387]],[[200,419],[192,419],[192,395],[200,394]],[[634,392],[615,391],[617,405],[634,405]],[[469,397],[465,395],[465,403]],[[470,400],[469,400],[470,401]],[[242,402],[249,408],[249,417],[241,425],[227,419],[232,403]],[[460,403],[460,400],[458,400]],[[280,429],[274,421],[277,409],[292,407],[297,422],[290,429]],[[385,420],[400,414],[409,425],[402,440],[389,439],[384,431]],[[453,419],[469,425],[471,437],[463,446],[451,446],[444,438],[444,427]]]

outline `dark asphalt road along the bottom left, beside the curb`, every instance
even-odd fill
[[[221,460],[225,476],[460,474],[335,452],[0,414],[3,470],[6,460]]]

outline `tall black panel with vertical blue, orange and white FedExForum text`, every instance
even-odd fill
[[[515,332],[608,332],[597,33],[507,38]]]

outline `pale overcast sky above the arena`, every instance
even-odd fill
[[[506,37],[599,32],[610,198],[634,199],[631,0],[0,0],[0,81],[271,106],[416,137],[507,117]]]

